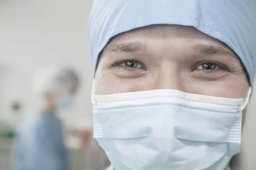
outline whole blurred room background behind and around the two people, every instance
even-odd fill
[[[49,64],[71,65],[81,76],[74,107],[61,114],[71,170],[103,170],[109,162],[92,140],[93,67],[87,53],[92,0],[0,0],[0,170],[10,170],[15,129],[35,109],[32,76]],[[256,95],[233,170],[255,170]]]

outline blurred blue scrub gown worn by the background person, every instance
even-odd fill
[[[14,170],[67,170],[61,121],[53,113],[26,115],[17,130]]]

